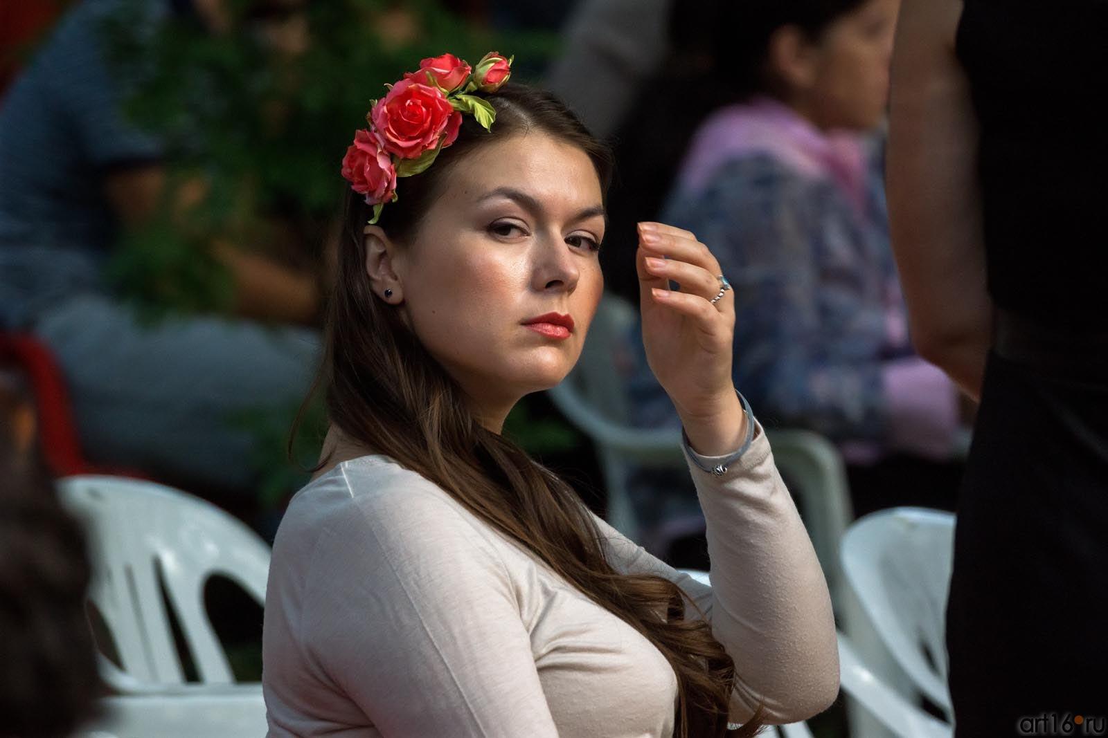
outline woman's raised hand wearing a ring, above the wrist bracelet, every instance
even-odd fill
[[[729,454],[746,435],[731,381],[735,297],[719,294],[720,269],[696,236],[657,222],[638,225],[643,344],[650,371],[669,395],[693,448]],[[670,290],[669,281],[679,290]]]

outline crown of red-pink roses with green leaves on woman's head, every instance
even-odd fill
[[[496,111],[474,92],[496,92],[512,75],[514,56],[495,51],[475,69],[453,54],[424,59],[418,72],[408,72],[388,94],[375,100],[366,121],[369,128],[353,134],[342,157],[342,176],[373,206],[370,224],[381,217],[387,201],[397,200],[397,177],[427,169],[458,138],[462,113],[492,131]]]

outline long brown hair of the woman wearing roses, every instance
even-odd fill
[[[386,205],[380,220],[390,239],[411,242],[444,177],[468,153],[526,131],[578,146],[607,190],[608,149],[553,95],[506,84],[488,100],[496,110],[491,133],[465,116],[456,142],[431,168],[400,180],[399,200]],[[459,385],[397,310],[370,290],[362,233],[370,215],[351,193],[320,374],[330,422],[350,439],[439,485],[649,640],[677,675],[676,735],[753,736],[761,706],[741,729],[727,729],[735,664],[706,622],[685,617],[688,597],[680,588],[661,576],[618,573],[576,492],[515,444],[483,428]]]

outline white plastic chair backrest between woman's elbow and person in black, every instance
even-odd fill
[[[882,643],[915,686],[951,714],[945,610],[954,514],[925,508],[879,510],[853,523],[842,564]]]

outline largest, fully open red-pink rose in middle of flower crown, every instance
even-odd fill
[[[438,87],[412,80],[401,80],[377,101],[369,118],[381,137],[384,150],[403,159],[414,159],[458,138],[462,114],[455,111]]]

